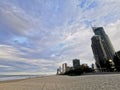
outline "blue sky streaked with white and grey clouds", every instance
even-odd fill
[[[90,66],[91,25],[120,50],[120,0],[0,0],[0,74],[55,74],[75,58]]]

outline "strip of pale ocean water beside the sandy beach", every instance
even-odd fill
[[[40,77],[38,75],[0,75],[0,81],[10,81],[10,80],[19,80]]]

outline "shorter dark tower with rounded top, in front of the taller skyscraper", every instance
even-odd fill
[[[91,38],[91,40],[91,47],[93,50],[94,58],[96,60],[96,66],[97,68],[105,68],[108,58],[102,39],[99,35],[95,35]]]

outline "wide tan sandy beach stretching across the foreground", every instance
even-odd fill
[[[120,74],[45,76],[0,82],[0,90],[120,90]]]

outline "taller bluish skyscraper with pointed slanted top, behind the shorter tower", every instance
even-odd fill
[[[108,37],[108,35],[105,33],[103,27],[93,27],[92,28],[95,35],[99,35],[101,37],[101,39],[104,42],[104,45],[106,46],[105,49],[107,49],[107,56],[109,57],[109,59],[113,60],[113,57],[115,55],[115,50],[112,46],[112,43]]]

